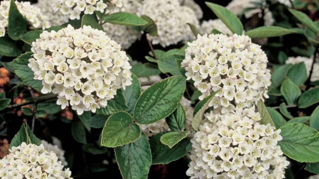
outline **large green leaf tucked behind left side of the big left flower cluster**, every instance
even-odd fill
[[[33,52],[27,52],[20,55],[12,61],[12,65],[16,75],[18,75],[23,82],[30,85],[32,88],[41,91],[42,81],[33,79],[33,71],[28,67],[29,59],[32,58]]]

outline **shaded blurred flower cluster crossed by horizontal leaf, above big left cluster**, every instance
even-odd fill
[[[129,0],[125,3],[125,12],[135,14],[139,6],[141,6],[140,0]],[[120,12],[119,8],[108,8],[107,13],[113,14]],[[122,49],[126,50],[141,37],[141,33],[133,29],[131,26],[123,26],[105,23],[103,24],[104,32],[118,44],[121,44]]]

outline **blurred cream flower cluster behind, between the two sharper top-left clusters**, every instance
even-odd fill
[[[38,8],[41,9],[42,13],[47,15],[47,20],[50,25],[62,25],[69,21],[69,17],[67,15],[63,15],[61,13],[55,13],[52,8],[51,0],[38,0],[37,4],[34,4]]]

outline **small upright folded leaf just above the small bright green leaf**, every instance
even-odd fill
[[[166,118],[166,123],[172,131],[179,132],[184,130],[185,120],[185,110],[183,109],[183,106],[179,103],[176,110]]]

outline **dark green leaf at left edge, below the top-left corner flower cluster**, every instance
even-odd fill
[[[22,53],[21,44],[9,37],[0,37],[0,54],[8,57],[17,57]]]

